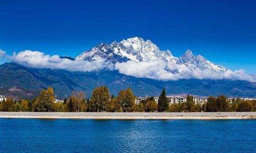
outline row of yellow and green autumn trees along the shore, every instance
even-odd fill
[[[135,96],[130,88],[121,90],[118,95],[110,96],[108,87],[96,87],[92,97],[86,99],[83,91],[73,91],[69,99],[65,97],[63,103],[55,103],[54,90],[49,87],[42,89],[39,96],[33,100],[11,98],[0,103],[0,111],[13,112],[252,112],[256,111],[255,100],[232,99],[229,103],[226,96],[209,96],[207,103],[194,102],[194,97],[187,95],[184,103],[169,105],[165,90],[156,103],[154,97],[147,97],[135,104]]]

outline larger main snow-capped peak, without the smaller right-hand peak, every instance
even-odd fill
[[[161,51],[157,45],[150,40],[144,41],[142,38],[134,37],[121,42],[110,44],[101,43],[92,49],[80,54],[76,60],[93,61],[106,59],[111,62],[135,62],[163,59],[176,63],[178,58],[174,57],[169,50]]]

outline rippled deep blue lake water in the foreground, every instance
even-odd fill
[[[0,152],[256,152],[256,120],[0,118]]]

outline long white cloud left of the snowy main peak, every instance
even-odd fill
[[[61,59],[58,55],[50,56],[42,52],[25,50],[8,57],[9,60],[32,68],[65,69],[69,71],[98,71],[103,68],[112,68],[112,64],[104,60],[72,61]]]

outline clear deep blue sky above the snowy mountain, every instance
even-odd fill
[[[0,1],[0,49],[75,57],[138,36],[177,57],[191,49],[256,73],[255,8],[256,1]]]

